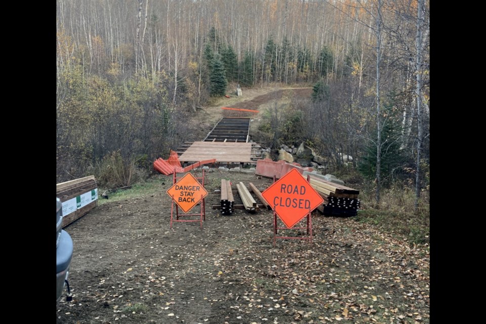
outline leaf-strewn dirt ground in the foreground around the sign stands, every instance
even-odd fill
[[[254,174],[207,173],[203,229],[197,222],[170,229],[172,178],[157,175],[149,193],[105,200],[67,226],[73,299],[57,302],[57,323],[429,322],[424,247],[319,212],[312,244],[277,239],[273,247],[271,211],[212,209],[221,179],[233,189],[239,181],[261,190],[271,184]],[[300,231],[282,234],[306,236]]]

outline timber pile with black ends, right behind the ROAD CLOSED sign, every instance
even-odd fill
[[[358,190],[312,176],[310,185],[324,199],[324,203],[317,207],[322,214],[340,217],[357,215],[360,205]]]

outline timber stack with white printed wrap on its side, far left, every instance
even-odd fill
[[[63,206],[62,227],[65,227],[96,206],[98,188],[95,176],[58,183],[56,196]]]

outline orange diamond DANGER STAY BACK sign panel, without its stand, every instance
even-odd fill
[[[174,201],[184,213],[190,211],[199,201],[206,197],[208,191],[197,181],[190,173],[186,174],[172,187],[167,190],[167,193],[174,197]],[[201,197],[202,195],[202,197]]]

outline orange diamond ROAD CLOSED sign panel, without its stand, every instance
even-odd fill
[[[324,202],[296,169],[281,177],[263,191],[262,195],[288,228]]]

